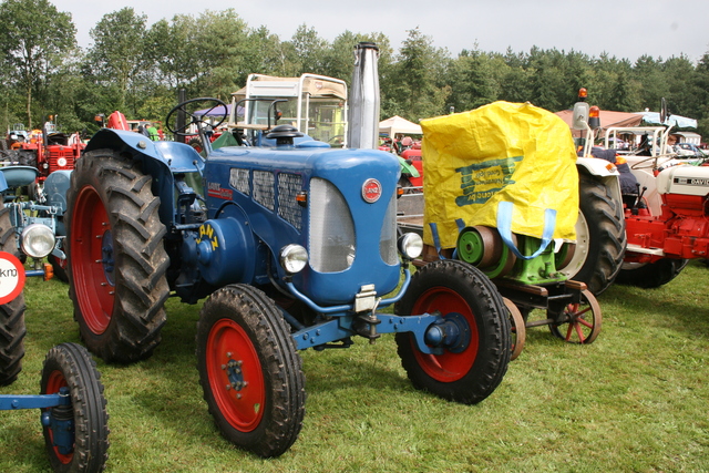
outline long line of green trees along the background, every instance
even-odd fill
[[[496,100],[531,102],[556,112],[576,102],[578,89],[602,110],[658,111],[698,119],[709,135],[709,52],[692,62],[643,55],[636,61],[579,51],[484,52],[476,44],[452,54],[419,28],[399,50],[383,33],[345,31],[327,41],[307,24],[289,40],[266,27],[249,27],[235,9],[177,14],[147,24],[132,8],[107,13],[91,29],[93,43],[76,44],[71,14],[48,0],[0,3],[0,126],[37,127],[56,115],[64,131],[94,132],[97,113],[120,110],[127,119],[161,121],[188,97],[225,101],[249,73],[298,76],[310,72],[349,83],[353,47],[379,47],[382,119],[420,119],[463,112]]]

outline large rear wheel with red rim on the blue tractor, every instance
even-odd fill
[[[148,358],[169,289],[165,226],[152,178],[110,150],[76,161],[68,195],[69,296],[89,350],[106,362]]]

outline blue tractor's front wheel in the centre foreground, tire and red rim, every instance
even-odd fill
[[[280,310],[247,285],[209,296],[197,323],[199,383],[222,434],[269,457],[296,441],[305,415],[302,361]]]

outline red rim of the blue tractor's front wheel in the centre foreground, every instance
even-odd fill
[[[239,376],[246,383],[240,389],[232,387],[234,376],[229,378],[229,369],[225,368],[230,361],[239,363]],[[254,343],[234,320],[220,319],[209,330],[206,364],[209,387],[222,415],[238,431],[255,430],[264,417],[264,374]]]

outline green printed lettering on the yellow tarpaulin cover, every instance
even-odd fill
[[[512,174],[523,157],[491,160],[455,169],[461,174],[461,189],[463,189],[463,195],[455,197],[455,205],[463,207],[471,204],[484,204],[496,192],[502,191],[508,184],[514,184]],[[484,191],[480,188],[482,186],[485,186]]]

